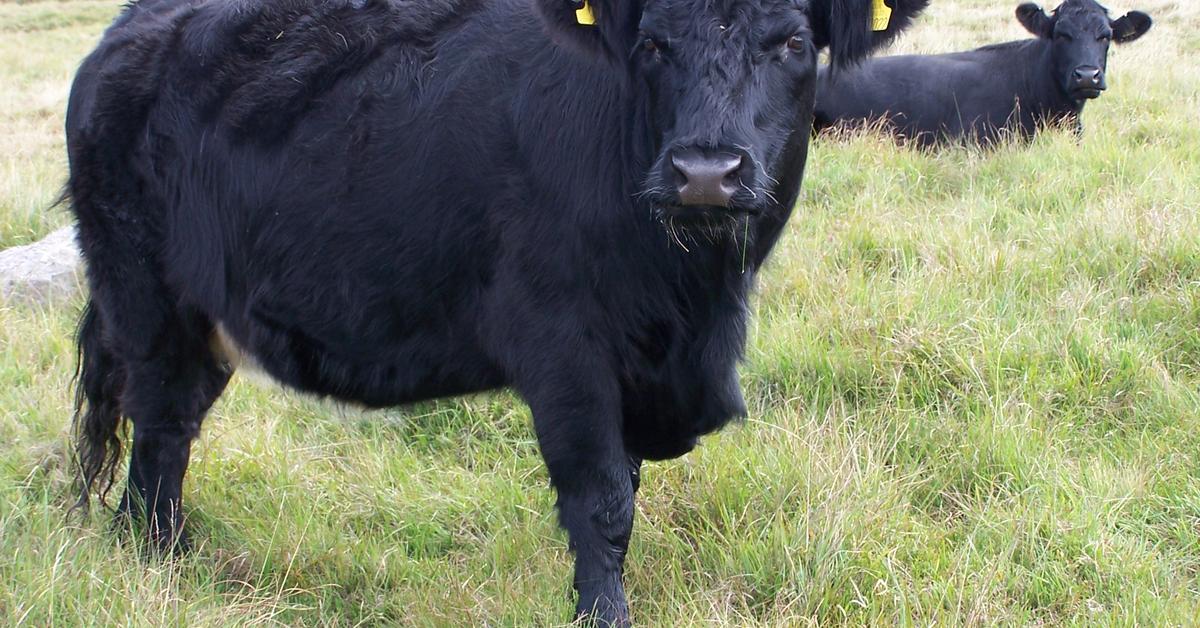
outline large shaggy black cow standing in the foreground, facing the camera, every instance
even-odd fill
[[[142,0],[83,62],[84,503],[179,548],[224,337],[293,388],[530,406],[578,612],[628,621],[643,459],[744,414],[746,293],[797,199],[816,55],[928,0]],[[594,23],[593,23],[594,22]]]

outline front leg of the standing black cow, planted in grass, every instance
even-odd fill
[[[622,568],[634,527],[637,462],[620,436],[619,391],[595,372],[562,370],[527,391],[559,524],[575,551],[576,616],[629,626]]]

